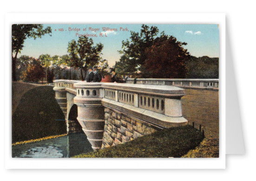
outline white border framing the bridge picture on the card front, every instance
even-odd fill
[[[6,169],[225,169],[225,13],[7,13],[5,18]],[[219,158],[12,158],[11,25],[29,23],[219,24]]]

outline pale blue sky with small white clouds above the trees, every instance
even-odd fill
[[[160,32],[172,35],[177,41],[186,42],[184,46],[192,56],[219,57],[219,28],[218,25],[190,25],[190,24],[146,24],[157,26]],[[140,32],[141,24],[44,24],[44,28],[51,26],[52,36],[48,34],[37,38],[27,38],[23,50],[18,55],[38,58],[41,54],[51,56],[66,55],[68,42],[78,40],[82,35],[93,35],[94,45],[102,43],[102,58],[108,60],[109,67],[119,61],[122,41],[131,37],[131,31]],[[106,29],[104,29],[106,28]],[[79,30],[80,29],[80,30]],[[115,29],[116,31],[110,31]]]

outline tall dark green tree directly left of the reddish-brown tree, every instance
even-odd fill
[[[145,50],[151,47],[158,35],[158,27],[142,25],[140,33],[131,31],[130,40],[122,41],[122,49],[119,50],[123,54],[120,61],[116,63],[115,69],[119,74],[133,74],[141,70],[146,55]]]

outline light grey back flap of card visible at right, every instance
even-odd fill
[[[230,48],[230,31],[226,26],[226,154],[244,154],[236,74]]]

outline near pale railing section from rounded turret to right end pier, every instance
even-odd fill
[[[181,88],[120,83],[104,83],[102,87],[105,99],[168,116],[182,116],[181,112],[175,114],[172,110],[176,106],[170,105],[170,101],[173,103],[185,95]]]

